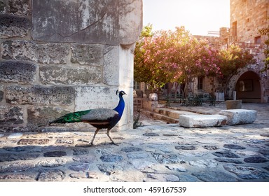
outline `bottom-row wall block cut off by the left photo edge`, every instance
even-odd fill
[[[19,106],[0,106],[0,125],[18,125],[23,123],[23,111]]]

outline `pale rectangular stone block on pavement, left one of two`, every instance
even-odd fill
[[[179,125],[182,127],[217,127],[226,125],[227,117],[221,115],[182,114]]]

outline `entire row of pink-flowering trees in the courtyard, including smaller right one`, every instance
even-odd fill
[[[149,25],[142,30],[135,48],[135,80],[148,83],[154,90],[169,82],[185,83],[192,91],[188,84],[193,78],[217,76],[226,89],[238,69],[250,63],[254,63],[253,56],[237,45],[218,51],[208,41],[198,41],[184,27],[153,33]]]

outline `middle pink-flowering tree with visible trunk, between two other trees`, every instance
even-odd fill
[[[184,27],[172,32],[169,41],[170,48],[166,50],[164,63],[174,73],[174,80],[184,82],[188,91],[193,92],[189,85],[193,78],[219,73],[217,51],[207,41],[193,38]]]

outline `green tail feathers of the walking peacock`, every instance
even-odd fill
[[[52,124],[52,123],[78,123],[78,122],[81,122],[81,116],[83,116],[89,112],[90,112],[90,110],[67,113],[64,116],[57,118],[56,120],[51,121],[50,124]]]

